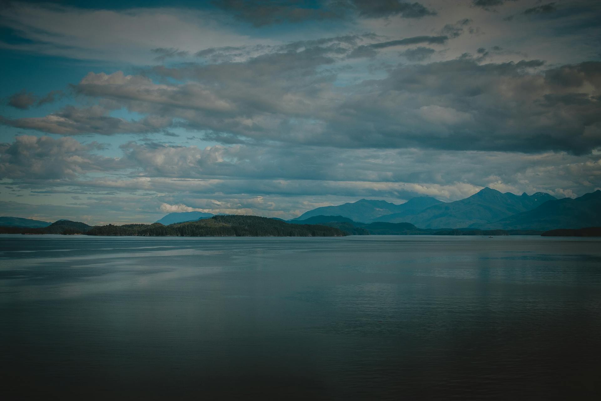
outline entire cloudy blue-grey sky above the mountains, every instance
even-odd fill
[[[2,1],[0,215],[601,189],[598,0]]]

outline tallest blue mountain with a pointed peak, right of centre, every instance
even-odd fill
[[[555,197],[545,192],[503,194],[487,187],[471,197],[430,206],[408,215],[405,221],[421,228],[486,228],[492,222],[534,209],[548,200],[555,200]]]

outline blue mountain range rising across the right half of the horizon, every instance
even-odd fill
[[[388,214],[382,214],[383,209],[398,210],[404,204],[362,199],[340,206],[318,207],[303,213],[296,220],[302,222],[305,221],[304,216],[315,216],[315,213],[331,210],[337,213],[337,216],[364,223],[402,222],[413,224],[420,229],[435,230],[471,228],[546,231],[601,225],[601,191],[599,190],[575,199],[557,199],[545,192],[515,195],[511,192],[502,193],[495,189],[484,188],[462,200],[449,203],[437,201],[438,203],[420,209],[420,206],[431,202],[424,201],[426,198],[428,197],[413,198],[418,201],[414,203],[409,200],[404,203],[413,204],[412,207],[405,207],[400,212]],[[323,219],[324,217],[322,221]]]

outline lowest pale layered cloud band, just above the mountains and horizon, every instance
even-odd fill
[[[458,117],[447,110],[426,112]],[[0,145],[0,177],[19,193],[86,195],[73,206],[77,213],[118,222],[154,221],[160,213],[188,210],[291,218],[322,203],[361,197],[398,203],[416,195],[457,200],[483,186],[582,195],[594,190],[601,174],[599,154],[565,152],[129,142],[120,158],[104,158],[96,155],[99,148],[69,137],[19,136]]]

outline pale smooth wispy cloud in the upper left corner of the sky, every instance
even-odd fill
[[[11,2],[0,7],[5,28],[22,40],[0,47],[84,60],[150,64],[151,49],[178,47],[175,55],[214,46],[249,44],[215,13],[194,8],[108,10]],[[164,54],[158,54],[161,57]]]

